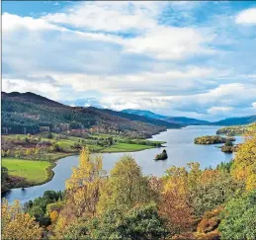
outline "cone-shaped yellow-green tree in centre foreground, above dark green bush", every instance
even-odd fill
[[[124,205],[129,208],[135,204],[148,203],[154,197],[148,178],[142,175],[135,160],[125,155],[116,163],[104,185],[98,210],[103,212],[112,205]]]

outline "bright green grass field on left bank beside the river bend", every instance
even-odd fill
[[[54,165],[46,161],[2,158],[2,166],[8,168],[11,176],[25,178],[33,185],[43,184],[53,177],[50,169]]]

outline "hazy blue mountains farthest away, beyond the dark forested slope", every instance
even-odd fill
[[[185,125],[199,125],[199,124],[209,124],[210,121],[207,120],[196,120],[196,119],[190,119],[186,117],[167,117],[162,115],[157,115],[151,111],[145,111],[145,110],[123,110],[123,113],[138,115],[138,116],[144,116],[146,118],[151,118],[154,120],[165,120],[171,123],[179,123],[179,124],[185,124]]]

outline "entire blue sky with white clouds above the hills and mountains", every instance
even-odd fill
[[[256,2],[2,2],[2,90],[200,120],[256,115]]]

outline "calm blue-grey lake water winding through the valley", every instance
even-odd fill
[[[199,162],[204,169],[216,166],[221,161],[229,161],[232,154],[225,154],[216,148],[216,145],[195,145],[194,138],[202,135],[213,135],[219,126],[187,126],[182,129],[168,129],[160,134],[154,135],[151,140],[166,141],[164,148],[153,148],[138,152],[128,153],[134,157],[145,175],[162,176],[166,169],[175,166],[186,166],[188,162]],[[242,142],[242,137],[236,136],[236,143]],[[221,144],[220,144],[221,145]],[[168,159],[165,161],[154,161],[154,156],[163,149],[167,150]],[[118,159],[125,153],[104,153],[103,166],[110,171]],[[77,166],[78,156],[70,156],[60,159],[53,169],[53,179],[41,186],[27,188],[24,191],[15,189],[5,194],[9,201],[21,200],[25,202],[43,195],[46,190],[64,190],[65,181],[71,175],[71,168]]]

